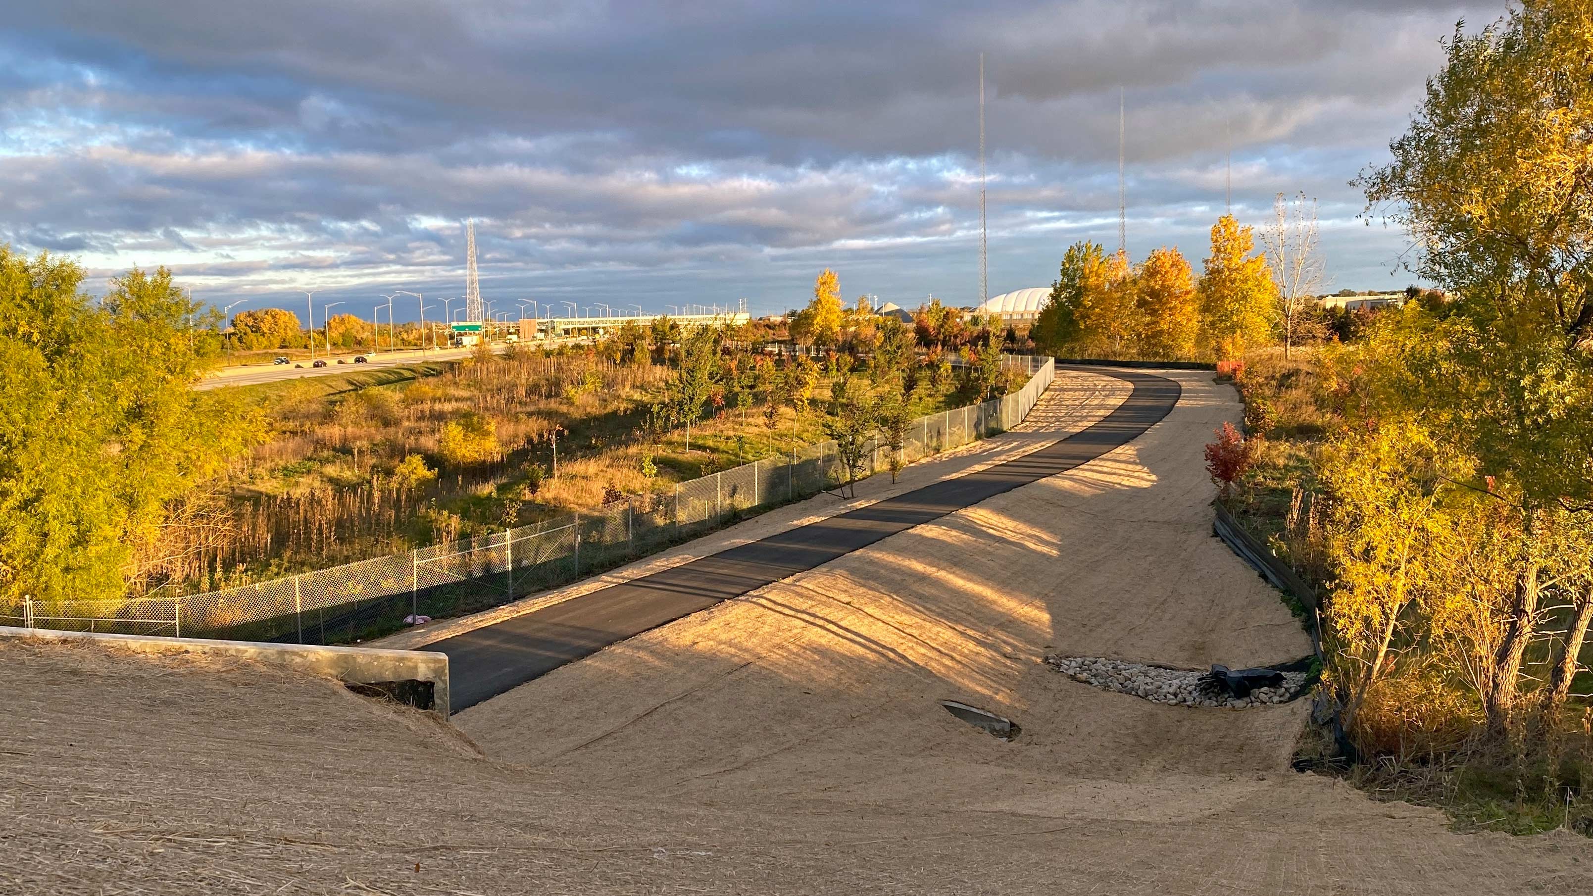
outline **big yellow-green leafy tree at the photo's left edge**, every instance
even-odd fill
[[[177,560],[172,526],[258,443],[258,411],[198,392],[198,303],[132,269],[100,301],[73,261],[0,246],[0,599],[118,598]]]

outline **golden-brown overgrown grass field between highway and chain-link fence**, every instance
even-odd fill
[[[268,434],[210,496],[212,525],[174,547],[185,560],[170,580],[212,590],[398,553],[669,493],[825,438],[832,376],[801,415],[787,402],[769,413],[761,395],[738,407],[731,391],[707,402],[690,445],[683,427],[644,438],[669,376],[666,365],[516,351],[242,387]],[[924,383],[911,413],[967,400],[953,379]]]

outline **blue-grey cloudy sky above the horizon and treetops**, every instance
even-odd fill
[[[978,298],[1075,239],[1198,265],[1231,147],[1241,222],[1321,201],[1333,289],[1403,287],[1348,185],[1386,156],[1458,19],[1502,0],[707,3],[3,0],[0,241],[96,290],[370,314],[379,292],[664,309]],[[413,300],[406,300],[413,305]],[[414,317],[400,306],[398,317]]]

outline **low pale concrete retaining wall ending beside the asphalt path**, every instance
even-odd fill
[[[100,635],[91,631],[53,631],[48,628],[13,628],[0,625],[0,638],[32,641],[100,641],[139,654],[199,654],[236,657],[309,674],[335,678],[349,686],[409,697],[419,705],[448,717],[448,655],[430,650],[382,650],[370,647],[317,647],[312,644],[263,644],[258,641],[207,641],[202,638],[158,638],[148,635]],[[405,686],[405,682],[422,682]],[[400,687],[401,686],[401,687]],[[425,687],[430,686],[430,687]],[[413,695],[430,692],[430,700]],[[421,703],[430,703],[421,705]]]

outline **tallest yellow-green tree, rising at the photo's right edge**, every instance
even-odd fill
[[[1485,708],[1507,727],[1537,636],[1563,513],[1593,512],[1593,14],[1523,0],[1445,67],[1367,199],[1418,234],[1413,269],[1450,293],[1407,305],[1407,400],[1518,523],[1509,623]]]

